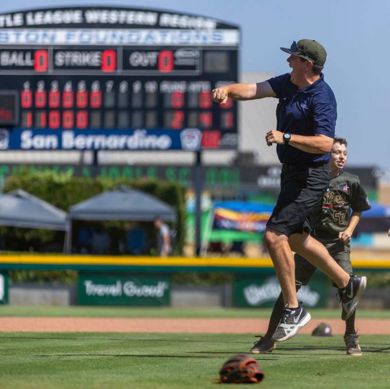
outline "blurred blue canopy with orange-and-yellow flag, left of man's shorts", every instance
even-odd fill
[[[214,204],[213,229],[264,232],[273,206],[267,204],[226,202]]]

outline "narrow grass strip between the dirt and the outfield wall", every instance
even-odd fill
[[[310,309],[313,318],[339,318],[339,309]],[[32,316],[32,317],[237,317],[268,318],[270,308],[154,308],[154,307],[21,307],[0,305],[0,316]],[[357,310],[358,318],[390,318],[388,310]]]

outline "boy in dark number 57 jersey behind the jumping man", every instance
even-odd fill
[[[329,164],[331,172],[329,188],[310,216],[310,224],[313,228],[311,235],[318,239],[328,249],[337,264],[352,276],[351,237],[362,212],[367,211],[371,206],[366,192],[360,185],[359,178],[342,170],[346,163],[347,141],[343,138],[335,138]],[[295,254],[294,260],[295,282],[298,291],[301,285],[307,285],[316,268],[299,254]],[[275,343],[271,337],[282,315],[283,296],[281,294],[275,303],[266,334],[255,343],[251,352],[262,354],[275,349]],[[355,311],[345,322],[344,342],[348,355],[362,354],[355,331]]]

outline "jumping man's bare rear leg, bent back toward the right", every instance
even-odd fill
[[[350,276],[329,255],[323,244],[310,235],[293,234],[288,238],[291,250],[316,266],[321,272],[332,279],[339,288],[347,286]]]

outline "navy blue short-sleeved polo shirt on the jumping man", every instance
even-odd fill
[[[279,99],[276,108],[277,130],[335,138],[337,104],[322,73],[315,83],[302,89],[290,81],[289,73],[270,78],[268,82]],[[330,153],[312,154],[290,145],[277,145],[276,151],[282,164],[328,163],[330,160]]]

